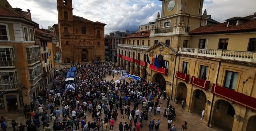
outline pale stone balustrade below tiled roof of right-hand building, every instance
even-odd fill
[[[178,53],[220,58],[220,59],[228,59],[228,60],[238,60],[238,61],[244,61],[244,62],[256,62],[256,52],[211,50],[211,49],[180,47]]]

